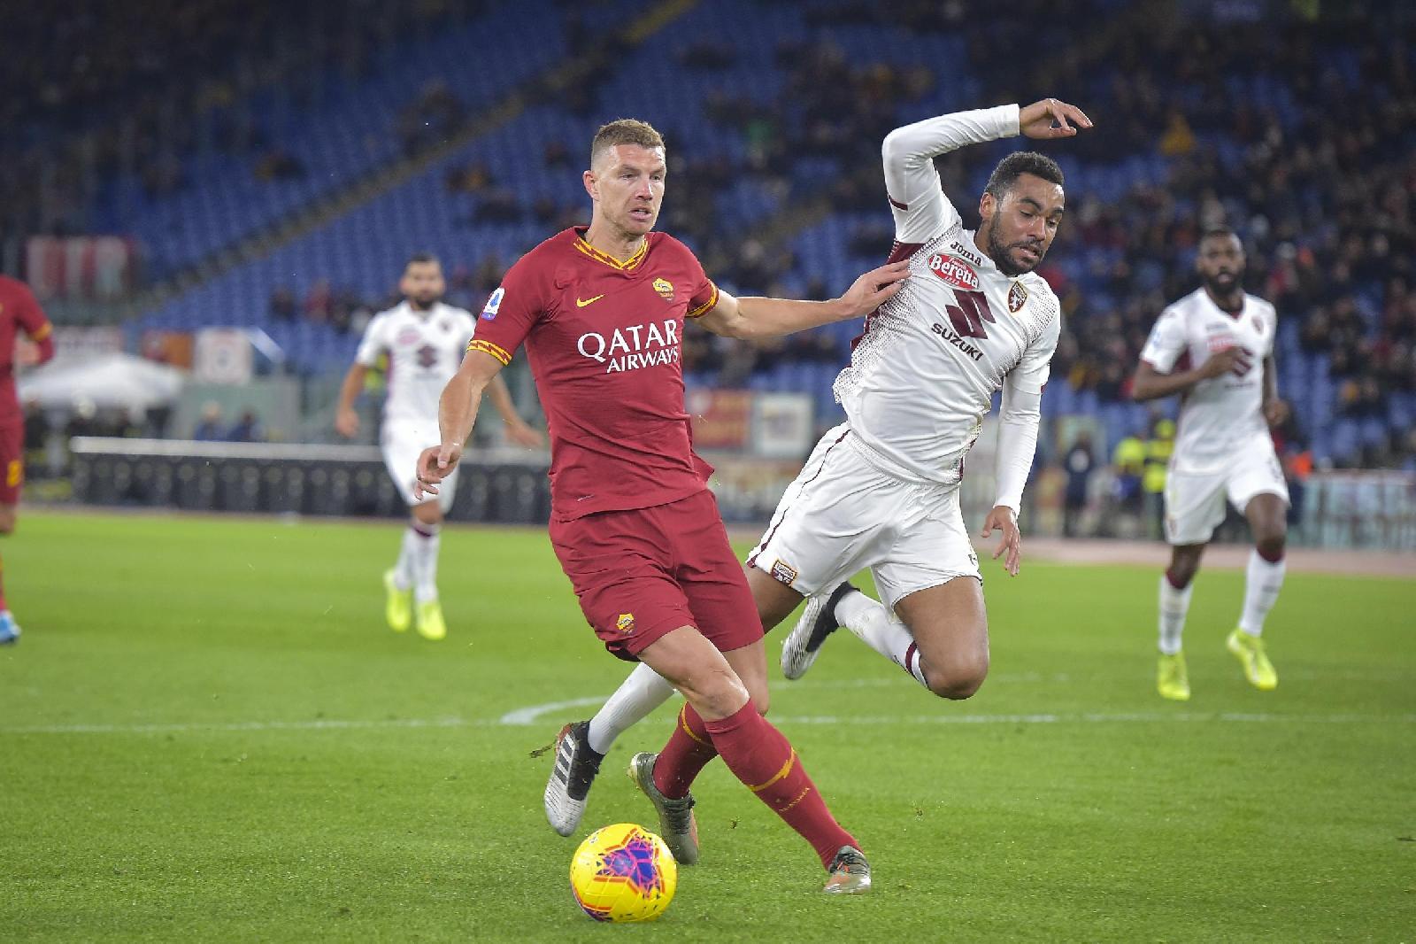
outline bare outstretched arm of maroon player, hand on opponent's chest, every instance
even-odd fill
[[[831,322],[865,318],[892,299],[906,278],[909,262],[891,262],[861,275],[844,295],[830,302],[733,298],[728,292],[719,292],[718,305],[694,320],[724,337],[777,337]]]

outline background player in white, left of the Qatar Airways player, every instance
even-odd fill
[[[358,434],[354,401],[364,390],[370,367],[379,354],[388,354],[381,445],[384,465],[409,506],[411,520],[398,563],[384,574],[387,618],[389,628],[406,631],[413,622],[416,600],[419,635],[442,639],[447,635],[447,624],[438,602],[438,534],[452,507],[456,485],[443,489],[440,496],[415,499],[413,465],[423,441],[438,437],[438,398],[457,373],[477,322],[466,309],[442,302],[446,282],[442,265],[432,255],[411,258],[398,288],[404,300],[375,315],[364,332],[340,387],[334,428],[344,437]],[[541,435],[517,415],[506,381],[493,380],[490,394],[507,424],[507,437],[523,446],[539,445]]]

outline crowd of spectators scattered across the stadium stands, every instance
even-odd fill
[[[395,38],[466,20],[483,6],[364,0],[358,13],[341,11],[337,26],[320,4],[232,0],[195,0],[176,16],[76,0],[59,0],[45,17],[0,11],[0,30],[14,47],[0,62],[0,82],[18,92],[0,99],[0,118],[25,129],[0,143],[0,228],[79,227],[92,193],[79,179],[85,169],[140,169],[153,193],[181,187],[180,156],[191,146],[183,129],[202,111],[224,116],[224,146],[251,153],[253,173],[299,176],[299,160],[262,142],[244,119],[244,96],[273,86],[317,95],[327,72],[367,72]],[[1249,252],[1247,288],[1274,302],[1294,342],[1289,350],[1301,360],[1281,366],[1291,371],[1283,376],[1300,386],[1321,376],[1332,384],[1335,418],[1389,427],[1338,461],[1416,465],[1416,432],[1391,420],[1393,395],[1416,404],[1416,20],[1399,4],[1381,3],[1324,4],[1320,20],[1304,18],[1297,4],[1298,13],[1267,21],[1245,16],[1263,4],[1229,4],[1233,16],[1184,16],[1185,4],[1177,4],[1172,20],[1144,24],[1134,18],[1140,7],[1120,0],[1085,0],[1065,20],[1054,6],[1020,0],[1005,17],[978,17],[960,0],[813,6],[811,27],[905,26],[919,35],[960,37],[969,95],[949,85],[944,65],[884,61],[886,48],[862,58],[823,33],[783,38],[775,54],[783,81],[773,95],[709,94],[709,119],[743,142],[745,157],[674,153],[661,228],[690,241],[705,268],[739,293],[826,298],[821,275],[803,271],[790,249],[724,227],[705,211],[715,196],[748,177],[782,194],[787,213],[824,204],[852,227],[852,255],[879,259],[892,238],[879,142],[902,116],[1055,94],[1086,108],[1096,128],[1039,147],[1069,173],[1068,218],[1041,269],[1066,316],[1054,377],[1102,404],[1126,401],[1157,313],[1197,285],[1198,235],[1226,223]],[[569,20],[568,33],[585,26],[575,10],[558,16]],[[1049,23],[1046,48],[1011,54],[1037,44],[1038,21]],[[316,41],[320,35],[337,41]],[[732,44],[702,41],[684,48],[678,62],[711,77],[736,57]],[[72,68],[57,75],[47,68],[52,61]],[[598,113],[596,84],[609,75],[589,77],[558,103]],[[469,118],[456,89],[429,84],[391,133],[411,153]],[[939,160],[966,225],[977,223],[974,197],[987,169],[1017,146],[964,149]],[[582,164],[564,142],[549,142],[542,160],[547,173],[575,173]],[[831,173],[807,181],[801,167],[813,162],[828,162]],[[58,184],[35,187],[35,180]],[[525,200],[480,162],[450,167],[445,186],[449,196],[476,197],[467,204],[469,230],[532,220],[549,232],[586,217],[583,203]],[[871,221],[860,223],[865,214]],[[469,266],[447,259],[447,300],[476,309],[511,261],[474,257]],[[370,298],[321,281],[276,289],[269,315],[357,335],[392,303],[396,296]],[[752,349],[691,332],[684,346],[687,370],[728,386],[783,361],[844,356],[840,335],[817,333]],[[1300,408],[1283,435],[1301,448],[1313,422]]]

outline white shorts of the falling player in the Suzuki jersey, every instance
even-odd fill
[[[748,563],[803,597],[869,567],[881,601],[978,574],[959,509],[959,485],[912,482],[841,424],[821,437],[787,486]]]

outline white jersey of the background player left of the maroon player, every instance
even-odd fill
[[[374,316],[354,360],[372,367],[381,353],[388,354],[385,422],[430,422],[436,434],[438,398],[457,373],[476,326],[470,312],[442,302],[428,312],[402,302]]]

